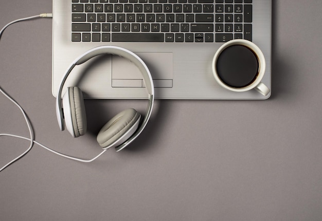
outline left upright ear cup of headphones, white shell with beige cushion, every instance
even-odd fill
[[[68,87],[63,96],[63,111],[67,131],[73,137],[86,133],[87,122],[83,93],[78,87]]]

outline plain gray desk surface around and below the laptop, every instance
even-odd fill
[[[50,0],[11,0],[0,27],[51,12]],[[322,1],[273,3],[272,97],[266,101],[158,100],[128,149],[79,163],[39,146],[0,173],[1,220],[321,220]],[[96,133],[126,107],[85,102],[87,135],[60,132],[51,95],[51,20],[9,27],[0,41],[0,82],[25,108],[36,139],[87,158]],[[0,133],[28,136],[0,96]],[[0,164],[28,142],[0,137]]]

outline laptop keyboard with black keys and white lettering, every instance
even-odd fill
[[[252,0],[70,0],[73,42],[252,41]]]

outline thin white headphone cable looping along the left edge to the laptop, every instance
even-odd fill
[[[5,27],[3,27],[1,30],[0,30],[0,39],[1,39],[1,36],[4,32],[4,30],[16,23],[16,22],[21,22],[21,21],[26,21],[26,20],[31,20],[31,19],[37,19],[37,18],[40,18],[40,17],[52,17],[52,14],[51,13],[43,13],[43,14],[40,14],[40,15],[34,15],[34,16],[30,16],[30,17],[24,17],[23,19],[17,19],[15,21],[12,21],[10,23],[8,23],[7,25],[5,25]],[[19,103],[17,103],[15,100],[13,100],[1,87],[0,87],[0,92],[5,96],[7,97],[12,103],[14,103],[21,111],[21,113],[23,114],[24,118],[25,118],[25,121],[27,123],[27,126],[28,126],[28,130],[29,130],[29,135],[30,135],[30,138],[27,138],[27,137],[22,137],[22,136],[18,136],[18,135],[14,135],[14,134],[0,134],[0,137],[1,136],[9,136],[9,137],[15,137],[15,138],[20,138],[20,139],[25,139],[25,140],[29,140],[30,141],[30,145],[28,147],[28,149],[22,153],[21,155],[17,156],[16,158],[14,158],[13,160],[11,160],[10,162],[8,162],[6,165],[4,165],[2,168],[0,168],[0,172],[3,171],[4,169],[6,169],[9,165],[11,165],[12,163],[14,163],[15,161],[19,160],[20,158],[22,158],[23,156],[25,156],[32,148],[33,146],[33,143],[35,144],[38,144],[39,146],[41,146],[42,148],[52,152],[52,153],[55,153],[59,156],[62,156],[62,157],[65,157],[65,158],[68,158],[68,159],[72,159],[72,160],[76,160],[76,161],[80,161],[80,162],[92,162],[94,161],[95,159],[97,159],[99,156],[101,156],[106,150],[103,150],[100,154],[98,154],[96,157],[94,157],[93,159],[89,159],[89,160],[85,160],[85,159],[79,159],[79,158],[76,158],[76,157],[71,157],[71,156],[68,156],[68,155],[64,155],[62,153],[59,153],[57,151],[54,151],[50,148],[48,148],[47,146],[37,142],[34,140],[34,133],[33,133],[33,128],[32,128],[32,125],[27,117],[27,114],[25,113],[24,109],[20,106]]]

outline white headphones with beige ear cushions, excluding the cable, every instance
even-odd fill
[[[141,115],[133,108],[126,109],[113,117],[106,123],[97,135],[97,142],[104,149],[115,148],[120,151],[129,145],[147,125],[154,103],[154,86],[151,73],[147,65],[135,53],[117,46],[100,46],[93,48],[70,64],[64,74],[58,89],[56,99],[56,114],[60,130],[63,131],[66,125],[67,131],[73,137],[79,137],[86,133],[86,114],[82,91],[78,87],[68,87],[63,98],[62,90],[64,83],[76,65],[99,56],[101,54],[115,54],[126,58],[134,63],[140,70],[148,91],[148,108],[144,119],[140,122]],[[65,119],[65,121],[64,121]]]

